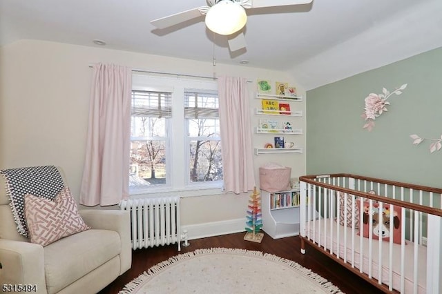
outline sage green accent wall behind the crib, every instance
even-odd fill
[[[361,57],[363,58],[363,57]],[[374,129],[363,129],[365,97],[392,92]],[[307,91],[307,174],[354,173],[442,187],[442,149],[410,135],[442,135],[442,48]]]

